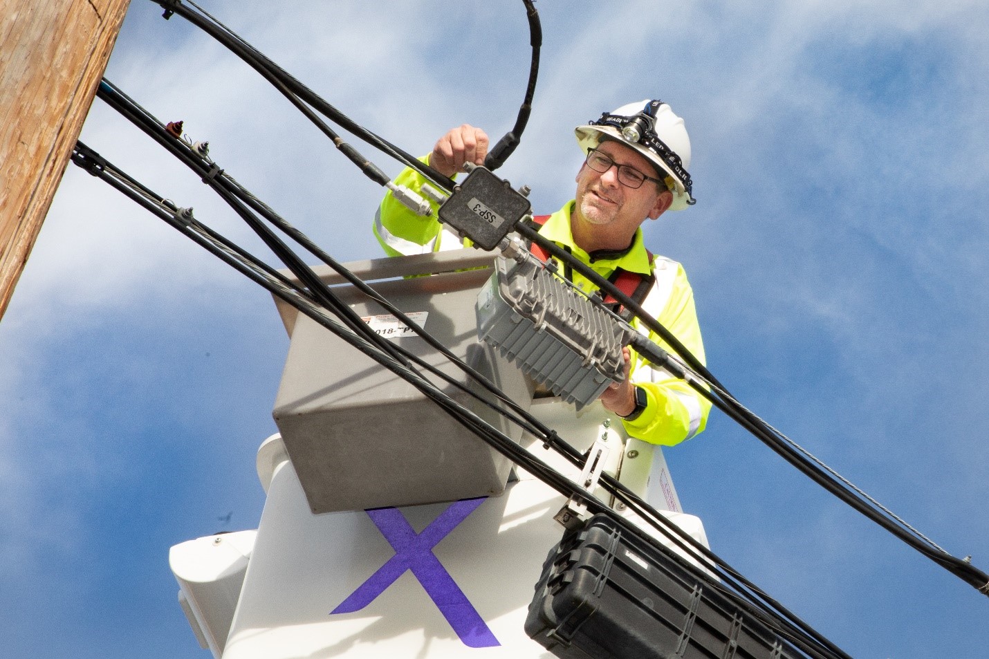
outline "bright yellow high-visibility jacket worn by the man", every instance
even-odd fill
[[[406,168],[395,182],[418,191],[425,179],[415,170]],[[605,279],[619,267],[646,276],[650,272],[655,273],[656,281],[641,302],[642,307],[673,332],[703,363],[704,345],[697,324],[693,291],[687,282],[683,266],[663,256],[650,258],[650,253],[643,245],[641,229],[636,231],[632,246],[627,250],[588,254],[574,242],[571,234],[570,216],[574,204],[574,201],[570,201],[551,215],[539,229],[539,234],[561,247],[569,247],[574,256]],[[433,210],[436,210],[435,206]],[[464,246],[460,237],[444,229],[435,217],[416,215],[396,200],[391,192],[385,195],[378,209],[374,233],[390,256],[460,249]],[[563,267],[558,270],[563,271]],[[578,272],[574,273],[573,282],[588,294],[597,288]],[[632,325],[667,351],[673,352],[665,341],[638,320],[633,321]],[[623,421],[629,435],[654,444],[671,446],[703,430],[711,409],[710,402],[665,370],[654,370],[634,351],[632,358],[631,379],[646,391],[649,404],[638,419]]]

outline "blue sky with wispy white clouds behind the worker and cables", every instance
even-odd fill
[[[520,2],[206,4],[413,153],[510,128]],[[659,97],[696,206],[647,226],[694,287],[708,363],[748,407],[989,569],[989,9],[976,0],[541,0],[529,129],[500,170],[573,194],[574,126]],[[132,3],[107,76],[339,260],[379,255],[381,191],[259,76]],[[83,140],[262,252],[100,101]],[[362,148],[391,174],[396,163]],[[253,528],[287,338],[270,297],[70,167],[0,323],[0,637],[8,656],[206,657],[172,544]],[[713,548],[855,657],[985,656],[989,602],[717,413],[667,452]],[[231,513],[228,522],[222,520]]]

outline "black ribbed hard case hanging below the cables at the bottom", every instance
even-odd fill
[[[561,659],[807,656],[672,552],[603,515],[550,551],[525,631]]]

